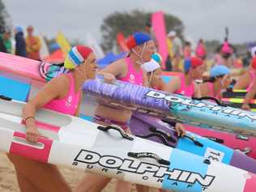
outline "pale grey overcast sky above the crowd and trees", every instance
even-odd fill
[[[255,0],[3,0],[13,25],[32,24],[36,33],[53,37],[60,30],[67,38],[84,40],[89,32],[100,40],[100,24],[114,11],[164,11],[179,17],[186,33],[207,40],[224,38],[234,43],[256,40]]]

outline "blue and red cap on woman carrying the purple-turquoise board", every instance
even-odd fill
[[[128,38],[127,46],[132,49],[136,46],[143,45],[147,41],[151,41],[151,37],[144,32],[135,32],[132,36]]]

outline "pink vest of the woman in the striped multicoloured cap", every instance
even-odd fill
[[[81,92],[75,93],[75,79],[72,73],[67,74],[70,79],[70,90],[63,99],[54,99],[44,106],[45,109],[51,109],[59,113],[75,115],[79,105]]]

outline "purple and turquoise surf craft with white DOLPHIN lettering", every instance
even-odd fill
[[[101,79],[87,80],[83,90],[109,106],[126,106],[147,115],[203,128],[256,135],[256,115],[206,100],[160,92],[149,87]],[[103,98],[103,99],[102,99]],[[217,101],[217,100],[215,100]]]

